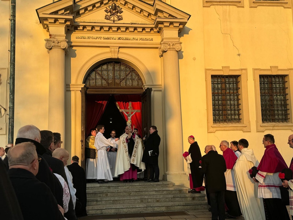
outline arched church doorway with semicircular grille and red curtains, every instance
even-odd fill
[[[143,90],[143,80],[130,65],[109,61],[93,67],[85,77],[81,90],[81,137],[85,142],[90,129],[98,124],[105,126],[104,136],[110,137],[110,131],[116,130],[117,137],[124,131],[126,118],[120,109],[127,109],[132,103],[138,109],[133,119],[139,134],[144,135],[151,122],[150,89]],[[149,103],[147,103],[147,98]],[[142,117],[143,116],[143,117]],[[133,121],[132,121],[133,122]],[[109,136],[109,137],[108,137]],[[84,165],[84,148],[81,146],[82,165]]]

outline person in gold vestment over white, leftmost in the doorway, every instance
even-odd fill
[[[97,149],[95,147],[95,139],[96,139],[97,131],[95,128],[91,129],[91,136],[86,138],[85,147],[89,149],[96,150],[95,158],[87,158],[86,159],[86,169],[85,169],[85,176],[86,179],[97,179]]]

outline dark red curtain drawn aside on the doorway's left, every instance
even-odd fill
[[[90,134],[101,119],[110,95],[88,95],[86,104],[86,134]]]

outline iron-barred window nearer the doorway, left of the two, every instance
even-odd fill
[[[239,75],[211,75],[213,123],[240,123]]]

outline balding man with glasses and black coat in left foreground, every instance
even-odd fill
[[[40,182],[38,173],[41,158],[38,158],[31,142],[15,145],[8,152],[8,175],[20,204],[24,220],[64,219],[64,210],[57,204],[49,187]]]

